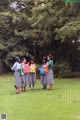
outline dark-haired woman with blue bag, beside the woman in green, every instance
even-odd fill
[[[44,57],[43,58],[43,63],[40,70],[40,79],[41,79],[41,83],[43,85],[43,89],[46,89],[47,87],[47,78],[48,78],[48,66],[47,66],[47,58]]]

